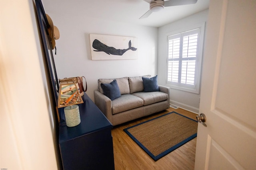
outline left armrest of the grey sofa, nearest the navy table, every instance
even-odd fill
[[[94,101],[100,111],[102,111],[102,113],[112,123],[112,102],[110,98],[108,98],[98,90],[94,90]]]

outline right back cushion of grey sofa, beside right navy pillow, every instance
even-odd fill
[[[137,77],[128,77],[130,94],[135,92],[142,92],[144,90],[142,77],[150,78],[150,75],[146,76],[137,76]]]

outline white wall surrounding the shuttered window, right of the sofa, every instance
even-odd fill
[[[197,23],[206,22],[208,18],[208,10],[204,10],[192,16],[172,22],[168,25],[159,27],[158,29],[158,83],[166,85],[166,59],[167,59],[167,33],[178,29],[195,25]],[[207,24],[206,24],[207,27]],[[206,37],[204,37],[205,39]],[[204,58],[204,57],[203,57]],[[184,109],[199,112],[200,94],[184,92],[181,90],[171,89],[170,103]]]

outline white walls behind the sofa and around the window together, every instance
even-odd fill
[[[47,14],[60,31],[54,57],[58,78],[85,76],[88,96],[94,100],[93,90],[98,78],[118,78],[158,74],[158,82],[166,85],[166,33],[186,25],[207,20],[208,10],[160,28],[131,25],[125,22],[94,18],[97,11],[86,1],[43,0]],[[95,12],[95,13],[94,13]],[[207,26],[207,25],[206,25]],[[92,61],[89,34],[138,37],[137,60]],[[171,103],[195,113],[199,111],[200,94],[171,90]]]

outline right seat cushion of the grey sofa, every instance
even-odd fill
[[[168,99],[168,94],[164,92],[137,92],[132,95],[141,98],[144,101],[144,106],[162,102]]]

